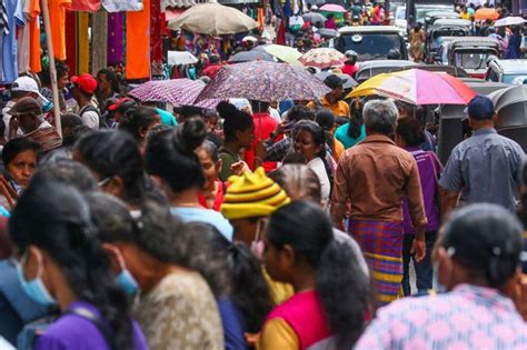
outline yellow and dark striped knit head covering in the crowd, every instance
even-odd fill
[[[264,168],[230,177],[221,213],[229,220],[269,217],[291,200],[278,183],[268,178]]]

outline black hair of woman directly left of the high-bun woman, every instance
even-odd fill
[[[74,151],[100,179],[119,177],[123,187],[122,200],[130,204],[139,204],[153,187],[145,173],[137,142],[126,132],[88,133],[76,143]]]

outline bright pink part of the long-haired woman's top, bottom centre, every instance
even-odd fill
[[[266,342],[266,324],[272,320],[285,320],[298,337],[298,349],[322,346],[331,338],[325,311],[315,290],[296,293],[292,298],[275,308],[269,313],[262,329],[264,347]]]

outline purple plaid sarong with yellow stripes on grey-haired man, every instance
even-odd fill
[[[377,299],[382,304],[397,299],[402,281],[402,223],[350,220],[349,233],[374,272]]]

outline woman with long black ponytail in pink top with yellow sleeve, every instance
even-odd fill
[[[302,201],[278,209],[264,241],[269,274],[291,283],[295,296],[268,316],[261,349],[350,349],[364,328],[369,282],[322,209]]]

